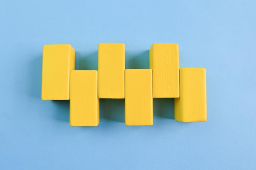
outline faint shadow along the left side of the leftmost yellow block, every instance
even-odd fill
[[[42,55],[38,55],[28,65],[27,88],[29,96],[41,98]]]

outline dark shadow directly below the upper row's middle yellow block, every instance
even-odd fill
[[[100,118],[124,122],[124,99],[100,99]]]

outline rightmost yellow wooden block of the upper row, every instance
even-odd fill
[[[153,98],[180,96],[178,44],[153,44],[149,52],[153,70]]]

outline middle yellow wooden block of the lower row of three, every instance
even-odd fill
[[[152,69],[125,70],[125,124],[153,125]]]

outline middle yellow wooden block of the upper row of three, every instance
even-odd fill
[[[99,98],[124,98],[124,44],[100,43],[98,59]]]

